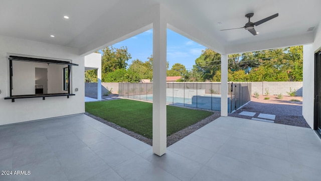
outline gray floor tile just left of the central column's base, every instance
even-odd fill
[[[128,135],[118,136],[114,138],[114,140],[136,154],[140,154],[151,148],[150,145]]]

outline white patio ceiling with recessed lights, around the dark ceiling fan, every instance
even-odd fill
[[[152,23],[154,7],[162,4],[170,27],[220,53],[234,53],[312,43],[321,21],[319,0],[2,0],[0,35],[79,48],[81,54],[141,33]],[[255,27],[243,27],[279,13]],[[69,16],[66,20],[63,16]],[[218,24],[221,22],[221,25]],[[190,27],[190,28],[187,28]],[[314,31],[307,32],[310,27]],[[51,38],[50,35],[55,35]]]

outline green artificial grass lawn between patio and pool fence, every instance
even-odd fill
[[[86,112],[130,131],[152,138],[152,103],[128,99],[86,102]],[[213,113],[167,106],[167,135],[172,135]]]

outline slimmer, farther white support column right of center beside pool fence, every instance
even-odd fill
[[[221,55],[221,116],[227,116],[227,95],[228,95],[228,56],[226,54]]]

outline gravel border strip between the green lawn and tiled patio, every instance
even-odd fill
[[[214,121],[215,119],[217,119],[217,118],[219,118],[221,116],[220,112],[217,112],[217,111],[211,111],[211,112],[213,112],[213,114],[211,116],[209,116],[209,117],[207,117],[207,118],[205,118],[205,119],[203,119],[203,120],[201,120],[201,121],[199,121],[199,122],[197,122],[197,123],[195,123],[195,124],[193,124],[191,126],[188,126],[188,127],[184,128],[184,129],[182,129],[182,130],[180,130],[180,131],[178,131],[178,132],[176,132],[176,133],[174,133],[174,134],[172,134],[170,136],[167,136],[167,147],[169,147],[170,145],[172,145],[172,144],[176,143],[177,141],[183,139],[187,135],[189,135],[192,132],[200,129],[201,127],[205,126],[206,124]],[[100,122],[102,122],[102,123],[114,128],[114,129],[117,129],[117,130],[119,130],[119,131],[121,131],[121,132],[123,132],[123,133],[125,133],[125,134],[127,134],[129,136],[131,136],[131,137],[134,137],[134,138],[136,138],[136,139],[138,139],[138,140],[140,140],[140,141],[142,141],[142,142],[144,142],[146,144],[149,144],[150,146],[152,146],[152,139],[146,138],[146,137],[144,137],[144,136],[142,136],[140,134],[137,134],[137,133],[135,133],[133,131],[129,131],[126,128],[118,126],[117,124],[109,122],[109,121],[107,121],[107,120],[105,120],[105,119],[103,119],[101,117],[94,116],[94,115],[92,115],[92,114],[90,114],[88,112],[85,112],[84,114],[89,116],[89,117],[91,117],[91,118],[96,119],[97,121],[100,121]]]

